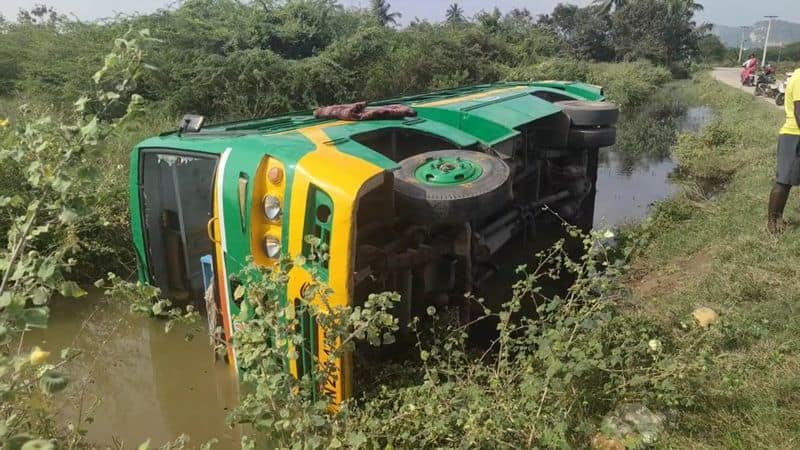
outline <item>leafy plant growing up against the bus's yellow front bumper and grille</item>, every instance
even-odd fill
[[[326,249],[318,239],[307,240],[318,249],[318,256],[311,261],[313,281],[297,302],[285,301],[289,273],[308,261],[284,257],[268,268],[251,261],[237,276],[242,283],[235,294],[242,300],[242,328],[234,335],[233,345],[242,380],[252,389],[230,419],[252,425],[260,439],[275,447],[336,448],[337,442],[342,445],[338,427],[348,405],[338,405],[339,415],[332,415],[335,399],[326,387],[338,381],[338,367],[356,342],[377,346],[394,341],[397,319],[389,311],[399,296],[371,294],[363,305],[332,304],[330,288],[318,277],[318,262]],[[310,326],[302,323],[303,317],[311,318],[323,333],[319,352],[314,351],[317,343],[309,342],[303,333],[302,327]],[[288,366],[300,364],[301,357],[311,364],[297,378]]]

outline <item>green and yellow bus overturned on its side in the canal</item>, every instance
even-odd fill
[[[190,117],[132,152],[139,277],[172,299],[213,290],[226,342],[240,310],[231,275],[248,257],[302,255],[308,235],[329,248],[332,303],[396,291],[401,320],[433,301],[458,305],[544,206],[591,227],[597,152],[616,137],[618,110],[603,100],[577,82],[499,83],[372,103],[413,117],[301,112],[207,127]],[[284,299],[310,280],[293,267]],[[236,367],[231,345],[227,356]],[[335,401],[350,395],[351,370],[341,362]]]

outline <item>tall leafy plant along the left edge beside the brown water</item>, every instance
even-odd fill
[[[75,238],[80,193],[93,183],[85,161],[142,111],[142,98],[134,92],[147,70],[141,46],[150,41],[146,30],[117,39],[93,77],[95,91],[75,103],[70,121],[24,107],[0,149],[0,164],[23,175],[14,195],[0,196],[3,214],[12,217],[0,249],[0,436],[26,448],[52,447],[53,438],[72,445],[81,439],[77,428],[63,429],[49,414],[49,397],[66,386],[58,368],[69,355],[46,364],[43,350],[23,354],[22,335],[47,326],[47,303],[54,295],[86,295],[69,279],[76,263],[71,254],[80,245]]]

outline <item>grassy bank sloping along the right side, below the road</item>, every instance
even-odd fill
[[[634,231],[645,245],[629,284],[635,315],[678,335],[692,311],[719,320],[705,333],[713,357],[697,397],[677,413],[665,448],[800,445],[800,199],[779,237],[766,232],[766,198],[781,112],[699,76],[683,88],[716,118],[675,148],[683,193]]]

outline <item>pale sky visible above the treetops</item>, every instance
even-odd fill
[[[113,16],[115,12],[147,13],[175,4],[178,0],[0,0],[0,14],[13,19],[19,8],[31,8],[37,3],[54,6],[57,11],[75,15],[82,20]],[[501,11],[528,8],[534,14],[548,13],[558,3],[585,6],[591,0],[456,0],[468,16],[495,5]],[[366,6],[369,0],[340,0],[346,6]],[[389,0],[392,9],[403,14],[403,23],[414,17],[442,20],[444,11],[453,0]],[[699,0],[705,6],[700,20],[722,25],[751,25],[764,15],[778,15],[784,20],[800,22],[800,0]]]

